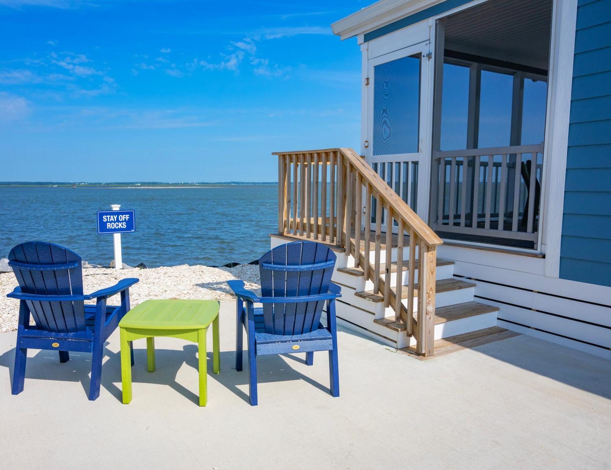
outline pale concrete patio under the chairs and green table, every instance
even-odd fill
[[[339,398],[326,353],[312,367],[303,354],[264,356],[251,407],[247,369],[233,369],[233,309],[222,303],[221,374],[209,361],[205,408],[196,344],[158,339],[148,373],[145,342],[134,342],[123,405],[118,331],[95,402],[90,355],[77,353],[60,364],[32,351],[24,391],[11,396],[16,333],[0,334],[1,467],[609,468],[611,361],[528,336],[418,361],[340,331]]]

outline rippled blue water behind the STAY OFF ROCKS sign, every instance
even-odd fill
[[[112,235],[98,235],[96,211],[136,211],[136,232],[122,234],[123,262],[148,267],[221,266],[269,250],[277,230],[277,186],[112,189],[1,187],[0,258],[28,240],[64,245],[108,266]]]

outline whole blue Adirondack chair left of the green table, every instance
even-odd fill
[[[126,278],[108,289],[83,295],[81,257],[46,242],[17,245],[10,250],[9,266],[19,287],[7,297],[20,300],[13,395],[23,391],[27,349],[31,348],[59,351],[60,363],[70,359],[68,351],[92,353],[89,399],[97,399],[104,341],[130,310],[129,289],[138,280]],[[120,306],[106,305],[106,298],[119,293]],[[84,300],[92,298],[97,299],[95,305],[84,304]],[[30,314],[35,326],[30,325]]]

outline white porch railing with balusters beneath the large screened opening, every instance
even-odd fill
[[[435,161],[434,230],[536,248],[543,143],[439,151]]]

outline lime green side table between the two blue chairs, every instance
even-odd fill
[[[206,333],[212,324],[213,372],[221,372],[217,300],[145,300],[119,322],[123,403],[131,402],[130,342],[147,339],[148,372],[155,371],[155,336],[196,342],[199,356],[199,406],[208,400]]]

